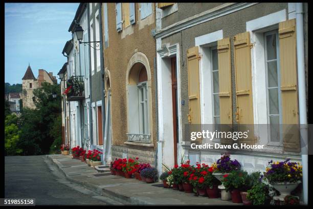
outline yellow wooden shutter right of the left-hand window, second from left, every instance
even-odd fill
[[[233,123],[232,111],[232,78],[230,39],[223,38],[217,41],[218,53],[218,83],[219,83],[219,114],[221,124]],[[232,131],[227,126],[221,126],[220,131]],[[232,139],[222,138],[222,144],[232,144]]]

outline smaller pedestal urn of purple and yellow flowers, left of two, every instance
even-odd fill
[[[219,181],[221,181],[223,177],[227,176],[231,171],[240,170],[241,168],[240,163],[236,159],[231,160],[228,152],[222,153],[220,159],[218,159],[216,163],[213,163],[211,166],[213,168],[213,175]],[[222,181],[221,183],[222,184],[218,186],[218,189],[221,190],[221,200],[230,200],[230,192],[225,190],[225,186]]]

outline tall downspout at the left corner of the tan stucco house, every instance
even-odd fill
[[[103,143],[103,154],[102,154],[102,164],[105,163],[105,148],[104,148],[104,131],[105,131],[105,100],[104,100],[104,57],[103,57],[103,46],[102,46],[102,3],[99,3],[99,35],[100,35],[100,68],[101,68],[101,95],[102,95],[102,143]]]

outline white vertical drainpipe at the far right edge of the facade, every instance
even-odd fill
[[[303,36],[303,4],[296,3],[296,31],[297,31],[297,67],[298,67],[298,93],[299,93],[299,119],[301,139],[302,184],[303,202],[308,201],[308,161],[307,161],[307,115],[305,94],[305,68],[304,68],[304,36]]]

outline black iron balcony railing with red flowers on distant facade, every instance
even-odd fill
[[[85,98],[85,86],[84,86],[84,76],[82,75],[72,75],[68,81],[66,81],[66,100],[68,101],[78,101]]]

